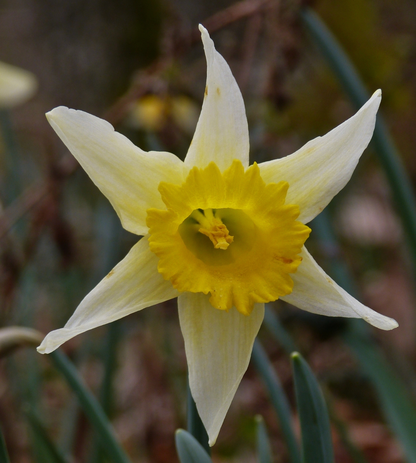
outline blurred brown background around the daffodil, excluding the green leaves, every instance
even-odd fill
[[[308,4],[338,38],[369,91],[382,88],[381,112],[415,184],[415,2]],[[251,162],[286,156],[354,113],[303,30],[303,6],[300,0],[0,1],[0,60],[38,78],[31,100],[1,110],[1,326],[43,333],[63,326],[137,241],[121,229],[44,113],[59,105],[82,109],[107,119],[145,150],[169,150],[183,159],[205,87],[196,29],[202,22],[243,93]],[[392,332],[372,335],[415,400],[414,277],[371,147],[329,210],[340,256],[362,300],[399,323]],[[329,272],[333,249],[323,249],[321,241],[312,232],[308,247]],[[345,320],[280,301],[270,308],[325,386],[336,462],[410,461],[385,421],[373,384],[340,338]],[[262,328],[259,338],[293,406],[290,359],[271,332]],[[133,462],[177,461],[174,432],[186,427],[187,372],[175,300],[78,336],[63,350],[100,398]],[[275,412],[251,365],[213,448],[214,462],[257,461],[257,414],[267,425],[274,460],[289,461]],[[300,434],[295,408],[292,418]],[[63,461],[106,461],[74,394],[50,359],[34,350],[19,350],[0,362],[0,422],[12,462],[57,461],[51,443]]]

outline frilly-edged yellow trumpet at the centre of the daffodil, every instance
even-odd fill
[[[237,160],[223,173],[210,163],[181,185],[161,182],[166,209],[148,209],[146,219],[159,273],[178,291],[210,293],[213,307],[246,315],[290,294],[310,229],[285,203],[288,188],[266,185],[257,164],[245,170]]]

